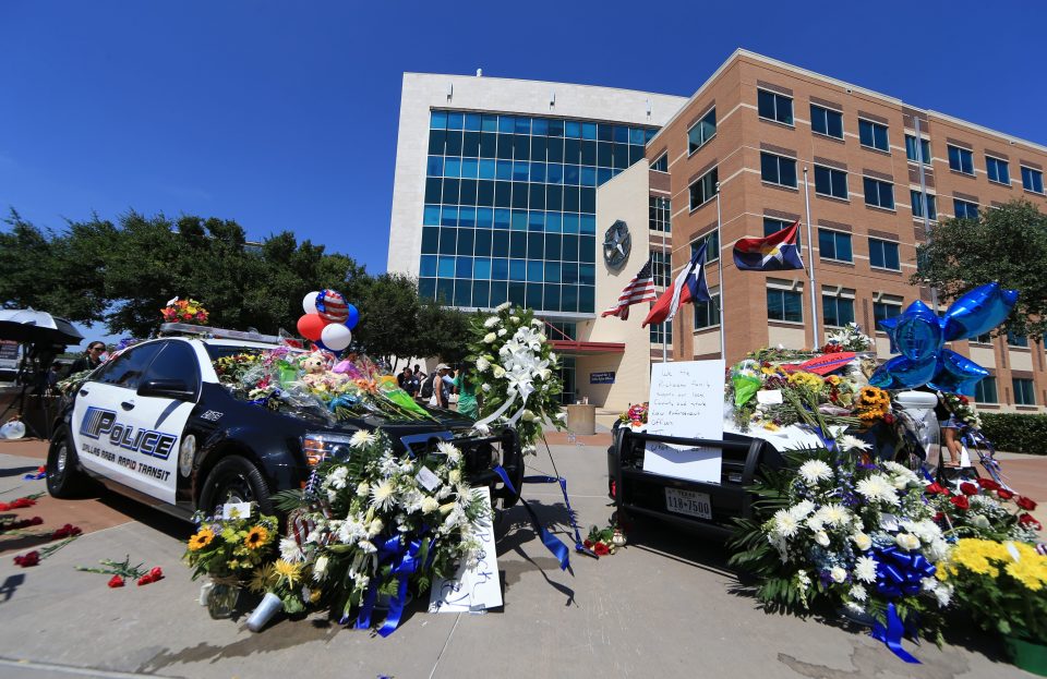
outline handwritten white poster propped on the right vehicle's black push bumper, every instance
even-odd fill
[[[651,369],[648,434],[723,439],[722,360],[655,363]],[[720,483],[719,448],[687,448],[648,441],[643,471],[688,481]]]

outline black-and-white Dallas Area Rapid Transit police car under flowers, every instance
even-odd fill
[[[177,325],[177,324],[172,324]],[[503,507],[518,499],[494,472],[498,463],[519,488],[524,463],[515,432],[470,436],[472,421],[430,409],[435,422],[369,415],[335,421],[322,409],[294,415],[236,398],[213,361],[274,349],[272,336],[206,328],[206,335],[161,337],[103,364],[64,403],[47,457],[47,489],[75,497],[88,480],[189,518],[225,502],[256,501],[301,488],[313,465],[349,453],[360,429],[382,429],[399,454],[438,454],[454,439],[473,485],[488,485]]]

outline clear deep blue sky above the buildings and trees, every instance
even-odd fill
[[[1047,143],[1040,3],[766,4],[9,0],[0,209],[217,216],[378,272],[405,71],[690,95],[737,47]]]

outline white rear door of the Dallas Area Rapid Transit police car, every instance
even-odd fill
[[[80,463],[91,472],[134,487],[134,460],[120,447],[146,368],[166,342],[125,350],[85,381],[76,395],[70,436]]]

